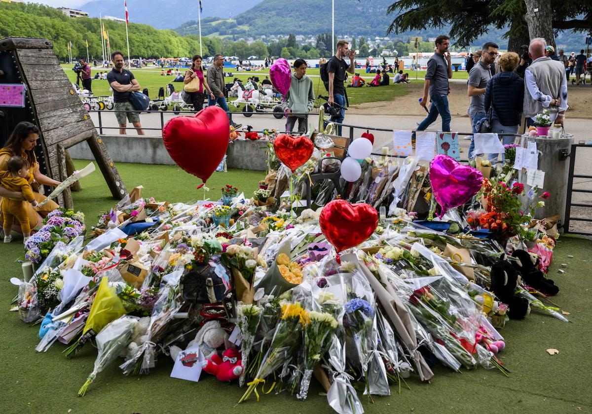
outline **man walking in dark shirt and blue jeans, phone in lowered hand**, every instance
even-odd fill
[[[436,121],[438,115],[442,117],[442,131],[450,131],[452,120],[448,107],[448,79],[452,79],[451,56],[448,51],[450,38],[446,35],[436,37],[436,53],[427,61],[426,81],[423,85],[423,98],[419,105],[426,108],[427,96],[429,93],[432,105],[416,131],[424,131]]]

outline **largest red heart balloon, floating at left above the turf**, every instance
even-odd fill
[[[195,117],[176,117],[162,128],[170,157],[189,174],[205,183],[228,148],[230,122],[218,106],[208,106]]]

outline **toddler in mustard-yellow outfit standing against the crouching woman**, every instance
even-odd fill
[[[29,163],[22,157],[11,157],[7,163],[7,170],[9,174],[0,180],[2,187],[10,191],[20,191],[22,197],[26,201],[12,200],[8,198],[2,199],[2,215],[4,216],[4,242],[12,241],[11,226],[12,221],[16,217],[21,225],[22,235],[27,238],[31,235],[31,225],[27,212],[24,209],[24,203],[30,202],[33,207],[37,206],[37,202],[31,190],[31,183],[33,182],[33,175],[29,173]]]

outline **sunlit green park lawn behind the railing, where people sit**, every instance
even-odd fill
[[[69,65],[68,66],[62,65],[62,67],[65,70],[66,75],[68,76],[70,81],[76,82],[76,73],[73,72],[73,70],[71,70],[71,66],[69,67]],[[94,76],[94,74],[96,72],[103,72],[104,71],[101,69],[102,68],[92,68],[92,76]],[[316,73],[315,73],[315,71],[316,71]],[[173,76],[160,75],[160,70],[157,70],[157,69],[147,68],[147,69],[141,69],[141,70],[132,70],[132,72],[134,73],[134,76],[136,77],[136,79],[140,83],[141,88],[142,89],[148,88],[148,93],[149,93],[149,96],[151,99],[156,99],[156,97],[158,96],[159,89],[161,87],[168,85],[169,83],[172,83],[172,85],[175,87],[175,90],[181,90],[181,88],[183,86],[182,82],[172,82],[172,80],[174,79]],[[238,77],[239,79],[245,81],[245,80],[247,80],[247,78],[249,78],[251,76],[258,76],[259,81],[261,81],[261,80],[265,79],[266,73],[269,73],[269,70],[267,70],[267,72],[262,72],[262,73],[233,72],[234,76],[227,77],[226,80],[227,80],[227,82],[232,82],[234,77]],[[313,87],[314,87],[315,96],[317,96],[317,97],[318,97],[318,95],[327,96],[327,90],[321,84],[321,78],[319,76],[314,76],[314,75],[318,75],[318,69],[314,69],[314,68],[309,69],[308,73],[310,73],[310,75],[313,75],[313,76],[311,76],[311,79],[313,80]],[[366,82],[370,82],[372,80],[372,78],[374,78],[374,75],[372,75],[372,74],[361,73],[360,75],[366,80]],[[392,75],[391,75],[391,79],[392,79]],[[423,79],[422,79],[422,77],[420,77],[419,80],[416,81],[413,79],[413,80],[411,80],[411,82],[423,82]],[[349,98],[350,105],[365,104],[366,102],[392,101],[397,96],[407,95],[407,93],[409,93],[411,91],[411,89],[412,88],[410,88],[410,84],[403,84],[403,83],[398,83],[397,85],[391,84],[388,86],[381,86],[379,88],[369,88],[369,87],[348,88],[348,98]],[[109,83],[107,82],[107,80],[99,80],[99,79],[92,80],[92,92],[94,93],[95,96],[111,95]],[[234,99],[236,99],[236,98],[230,98],[229,101],[233,101]],[[323,102],[324,101],[317,99],[316,106],[322,104]],[[239,108],[234,108],[234,106],[230,105],[229,108],[231,111],[242,112],[243,105],[239,106]]]

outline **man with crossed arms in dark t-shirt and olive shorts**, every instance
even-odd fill
[[[111,53],[111,60],[113,61],[113,70],[107,73],[107,82],[113,89],[113,102],[115,109],[115,118],[119,124],[120,135],[126,135],[127,121],[130,121],[138,135],[145,135],[140,128],[140,113],[136,111],[130,103],[130,93],[140,90],[140,83],[134,77],[134,74],[123,67],[123,53],[114,51]]]

